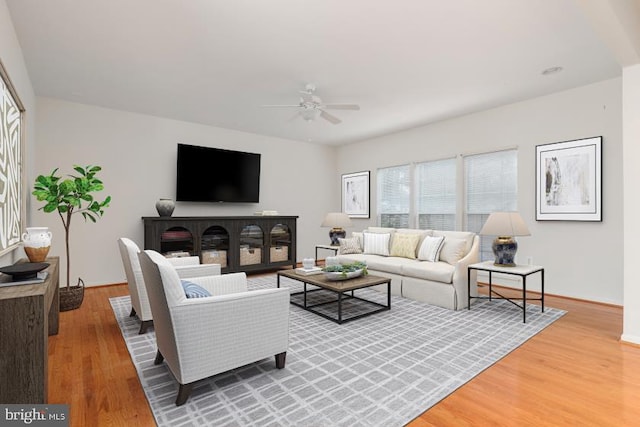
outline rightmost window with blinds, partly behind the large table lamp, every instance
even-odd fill
[[[518,208],[518,155],[505,150],[465,156],[465,224],[476,233],[494,211]],[[480,236],[480,260],[494,259],[492,236]]]

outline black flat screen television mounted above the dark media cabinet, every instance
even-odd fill
[[[178,144],[176,200],[258,203],[260,154]]]

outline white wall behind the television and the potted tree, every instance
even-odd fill
[[[336,169],[333,147],[49,98],[37,98],[37,108],[37,173],[55,167],[69,173],[73,164],[98,164],[103,167],[103,194],[113,198],[99,223],[85,223],[81,216],[73,219],[72,284],[78,276],[87,285],[125,281],[116,239],[128,236],[142,247],[141,217],[157,216],[159,198],[175,198],[178,142],[262,154],[261,188],[259,204],[178,202],[174,216],[252,215],[265,209],[298,215],[298,260],[313,256],[314,245],[328,240],[328,230],[320,223],[328,210],[340,209],[333,197],[336,189],[327,185],[327,177]],[[35,200],[33,204],[33,210],[42,206]],[[60,219],[41,211],[32,215],[30,225],[52,229],[51,253],[62,256]]]

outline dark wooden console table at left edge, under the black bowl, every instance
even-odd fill
[[[0,403],[47,403],[48,336],[58,333],[59,258],[43,283],[0,287]]]

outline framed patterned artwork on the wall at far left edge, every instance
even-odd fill
[[[24,222],[24,107],[0,62],[0,256],[18,247]]]

